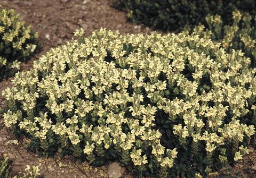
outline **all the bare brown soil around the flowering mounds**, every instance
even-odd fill
[[[124,12],[111,7],[110,1],[103,0],[1,0],[0,5],[14,9],[20,14],[26,24],[38,31],[41,48],[31,59],[23,63],[22,70],[29,70],[34,60],[45,54],[50,48],[65,44],[73,38],[78,28],[84,28],[85,35],[89,36],[95,29],[101,27],[110,30],[119,30],[121,33],[150,33],[151,29],[136,26],[126,19]],[[11,79],[0,82],[0,107],[4,107],[2,91],[11,87]],[[6,153],[13,161],[12,174],[23,172],[26,165],[38,165],[44,177],[108,177],[106,167],[91,167],[87,163],[74,162],[70,157],[39,158],[37,154],[26,150],[26,138],[18,139],[4,127],[0,117],[0,154]],[[14,142],[14,143],[13,143]],[[234,168],[223,171],[221,177],[229,174],[237,177],[254,177],[256,175],[256,151],[247,156],[243,162]],[[239,175],[238,175],[239,174]],[[124,177],[134,177],[125,173]]]

